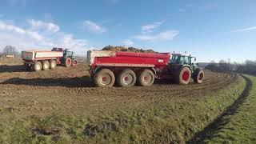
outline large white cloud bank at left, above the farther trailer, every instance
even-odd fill
[[[18,50],[31,48],[46,50],[58,46],[70,48],[77,54],[86,54],[87,40],[66,34],[54,23],[34,20],[34,24],[39,22],[39,25],[34,25],[31,20],[27,22],[29,26],[23,28],[0,20],[0,50],[7,45],[16,46]]]

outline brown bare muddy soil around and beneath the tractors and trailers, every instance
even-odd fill
[[[143,109],[152,104],[200,99],[225,88],[238,76],[206,71],[201,85],[178,86],[156,82],[151,87],[94,87],[88,66],[62,67],[56,70],[28,72],[22,62],[0,66],[0,113],[20,117],[48,114],[84,115],[102,111]]]

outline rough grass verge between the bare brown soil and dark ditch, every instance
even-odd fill
[[[245,86],[245,80],[238,78],[203,99],[158,102],[143,109],[98,111],[83,116],[52,114],[46,118],[1,115],[0,143],[186,142],[222,114]]]

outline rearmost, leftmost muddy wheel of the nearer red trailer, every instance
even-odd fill
[[[94,84],[98,87],[113,86],[114,81],[114,73],[111,70],[102,69],[94,74]]]

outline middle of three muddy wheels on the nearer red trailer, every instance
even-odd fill
[[[117,79],[118,86],[134,86],[136,83],[136,74],[133,70],[123,70]]]

